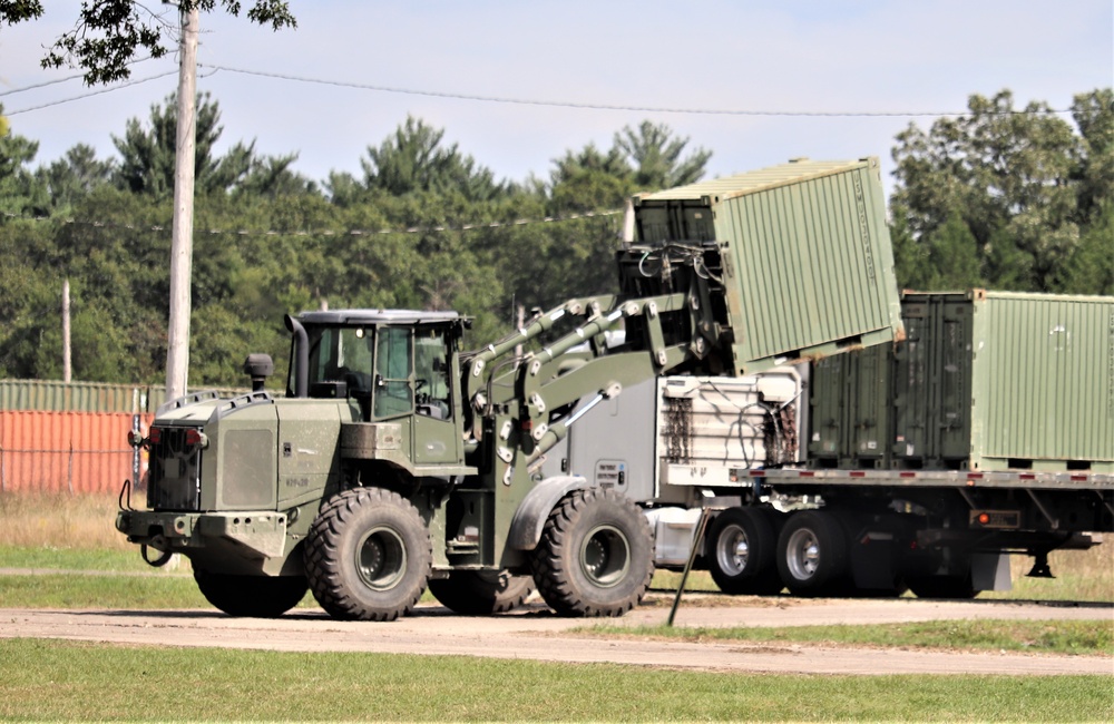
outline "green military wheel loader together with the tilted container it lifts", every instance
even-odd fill
[[[189,558],[206,599],[237,616],[278,616],[310,590],[335,618],[391,620],[427,587],[490,614],[531,585],[564,616],[629,610],[654,571],[643,507],[546,474],[547,451],[639,382],[746,375],[903,333],[877,158],[643,200],[618,293],[472,351],[456,312],[287,315],[285,393],[266,391],[274,364],[255,354],[251,393],[167,402],[129,438],[148,454],[147,505],[126,482],[116,528],[148,562]]]

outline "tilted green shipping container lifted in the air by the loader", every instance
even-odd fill
[[[638,243],[719,244],[736,374],[902,335],[877,158],[794,160],[634,206]]]

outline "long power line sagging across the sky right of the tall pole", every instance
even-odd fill
[[[528,98],[506,98],[500,96],[479,96],[471,94],[459,94],[459,92],[448,92],[448,91],[437,91],[437,90],[420,90],[414,88],[397,88],[392,86],[377,86],[371,84],[351,82],[344,80],[328,80],[324,78],[309,78],[304,76],[292,76],[289,74],[268,72],[263,70],[248,70],[244,68],[229,68],[227,66],[213,66],[207,63],[197,63],[202,68],[211,68],[213,70],[223,70],[225,72],[241,74],[245,76],[257,76],[261,78],[272,78],[276,80],[290,80],[295,82],[314,84],[319,86],[334,86],[338,88],[353,88],[356,90],[372,90],[377,92],[387,94],[401,94],[409,96],[426,96],[430,98],[450,98],[453,100],[475,100],[480,102],[494,102],[494,104],[511,104],[520,106],[546,106],[550,108],[579,108],[584,110],[627,110],[627,111],[638,111],[638,112],[656,112],[656,114],[682,114],[682,115],[703,115],[703,116],[778,116],[778,117],[818,117],[818,118],[918,118],[918,117],[944,117],[944,116],[968,116],[971,111],[968,110],[949,110],[949,111],[921,111],[921,110],[901,110],[901,111],[829,111],[829,110],[746,110],[746,109],[714,109],[714,108],[668,108],[668,107],[657,107],[657,106],[614,106],[607,104],[587,104],[587,102],[576,102],[576,101],[565,101],[565,100],[538,100]],[[1071,110],[1028,110],[1028,109],[1009,109],[991,111],[993,115],[1057,115],[1067,114]]]

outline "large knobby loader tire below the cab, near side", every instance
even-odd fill
[[[305,539],[310,590],[333,618],[394,620],[414,607],[432,571],[429,529],[401,496],[355,488],[322,508]]]

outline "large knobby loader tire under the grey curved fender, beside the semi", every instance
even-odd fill
[[[654,576],[654,536],[626,497],[574,490],[549,513],[530,558],[534,583],[560,616],[622,616]]]

